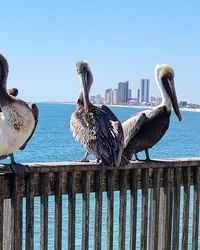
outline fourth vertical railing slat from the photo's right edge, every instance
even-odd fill
[[[164,170],[164,232],[163,249],[168,250],[171,247],[172,232],[172,171],[170,168]]]

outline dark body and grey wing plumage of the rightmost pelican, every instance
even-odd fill
[[[165,106],[156,108],[151,111],[144,111],[141,114],[129,118],[122,123],[124,136],[128,137],[124,145],[123,155],[127,159],[132,159],[133,154],[153,147],[165,134],[169,128],[170,112]],[[137,129],[132,127],[132,130],[126,130],[127,123],[140,123]],[[148,157],[147,157],[148,158]]]

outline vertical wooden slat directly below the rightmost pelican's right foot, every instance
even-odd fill
[[[142,213],[141,213],[141,239],[140,249],[147,249],[147,226],[148,226],[148,187],[149,187],[149,170],[142,169]]]

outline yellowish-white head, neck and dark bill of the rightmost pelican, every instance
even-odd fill
[[[182,120],[181,113],[178,106],[178,100],[176,96],[176,90],[174,85],[175,73],[173,68],[168,64],[159,64],[155,67],[155,77],[158,86],[161,89],[163,104],[167,108],[173,106],[174,112],[177,115],[179,121]]]

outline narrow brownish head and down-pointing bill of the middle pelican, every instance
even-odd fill
[[[92,72],[90,70],[89,64],[84,60],[77,62],[76,69],[82,84],[81,98],[83,98],[84,109],[85,112],[88,112],[90,104],[89,91],[93,82]]]

